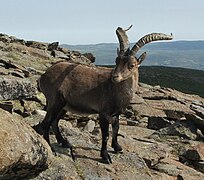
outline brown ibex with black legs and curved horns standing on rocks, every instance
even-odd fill
[[[127,29],[129,30],[131,26]],[[59,119],[69,110],[98,113],[102,131],[101,157],[111,163],[107,151],[109,123],[112,123],[112,147],[122,151],[118,144],[119,115],[130,103],[138,86],[138,67],[146,53],[135,57],[147,43],[171,40],[172,35],[152,33],[142,37],[130,50],[126,31],[118,27],[116,34],[120,43],[115,68],[91,67],[69,62],[59,62],[50,67],[39,79],[39,88],[47,100],[47,114],[42,122],[43,136],[50,144],[49,130],[52,125],[56,139],[63,147],[71,149],[58,127]]]

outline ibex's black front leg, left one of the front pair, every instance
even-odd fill
[[[99,124],[102,133],[102,147],[101,147],[102,162],[110,164],[112,163],[112,161],[107,151],[107,142],[109,137],[109,121],[105,116],[100,115]]]

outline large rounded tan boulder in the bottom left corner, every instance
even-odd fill
[[[47,142],[21,119],[0,109],[0,179],[28,178],[48,168]]]

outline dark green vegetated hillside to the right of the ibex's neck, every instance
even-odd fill
[[[204,97],[204,71],[162,66],[142,66],[139,71],[140,82]]]

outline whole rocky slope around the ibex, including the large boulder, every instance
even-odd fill
[[[100,161],[97,115],[67,113],[60,129],[74,146],[51,144],[32,127],[45,116],[36,79],[59,60],[92,65],[91,54],[54,43],[0,34],[0,179],[204,179],[204,99],[169,88],[140,84],[129,113],[120,117],[123,152]],[[110,128],[111,131],[111,128]]]

